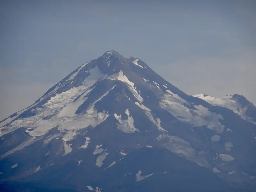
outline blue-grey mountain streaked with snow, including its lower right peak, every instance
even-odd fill
[[[0,188],[254,191],[255,112],[240,95],[187,95],[108,51],[0,122]]]

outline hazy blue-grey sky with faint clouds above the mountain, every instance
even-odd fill
[[[171,3],[172,2],[172,3]],[[108,50],[187,94],[256,104],[256,1],[0,1],[0,120]]]

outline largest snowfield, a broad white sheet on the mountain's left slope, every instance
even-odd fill
[[[90,125],[95,127],[105,121],[109,115],[105,111],[96,111],[93,108],[94,106],[90,106],[91,108],[86,111],[86,114],[75,114],[77,108],[84,102],[84,96],[92,90],[90,87],[97,81],[106,78],[106,75],[101,74],[98,67],[91,69],[89,73],[90,75],[85,79],[84,85],[73,87],[66,92],[51,97],[43,106],[35,109],[35,116],[13,121],[10,125],[1,129],[1,135],[15,131],[19,127],[25,127],[31,128],[31,130],[28,130],[30,136],[39,137],[57,126],[60,132],[66,132],[67,130],[75,132]],[[78,96],[81,97],[73,102]],[[52,116],[52,118],[43,120],[48,116]]]

